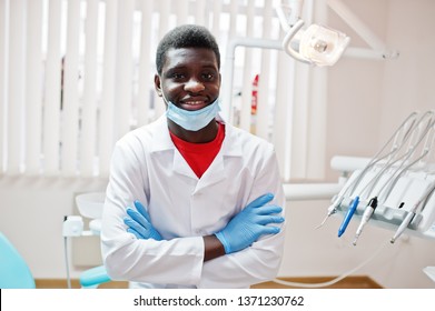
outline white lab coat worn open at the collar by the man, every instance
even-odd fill
[[[151,288],[248,288],[276,277],[284,223],[276,235],[204,262],[201,237],[225,228],[254,199],[271,192],[271,203],[285,205],[273,146],[230,124],[225,128],[221,149],[200,179],[174,146],[165,116],[117,142],[101,229],[102,258],[113,280]],[[134,200],[148,209],[164,241],[126,232],[122,219]]]

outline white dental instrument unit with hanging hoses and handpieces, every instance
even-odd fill
[[[355,214],[360,220],[354,245],[368,221],[393,230],[390,243],[404,232],[435,239],[434,143],[435,111],[413,112],[368,164],[350,175],[320,225],[329,215],[345,213],[340,237]]]

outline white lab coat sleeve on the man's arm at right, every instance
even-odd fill
[[[271,148],[256,175],[248,202],[266,192],[275,194],[270,204],[280,205],[284,215],[286,201],[276,156]],[[243,251],[206,262],[198,288],[227,288],[228,284],[231,288],[248,288],[274,279],[281,262],[286,224],[284,222],[274,225],[280,227],[278,234],[263,235]]]

